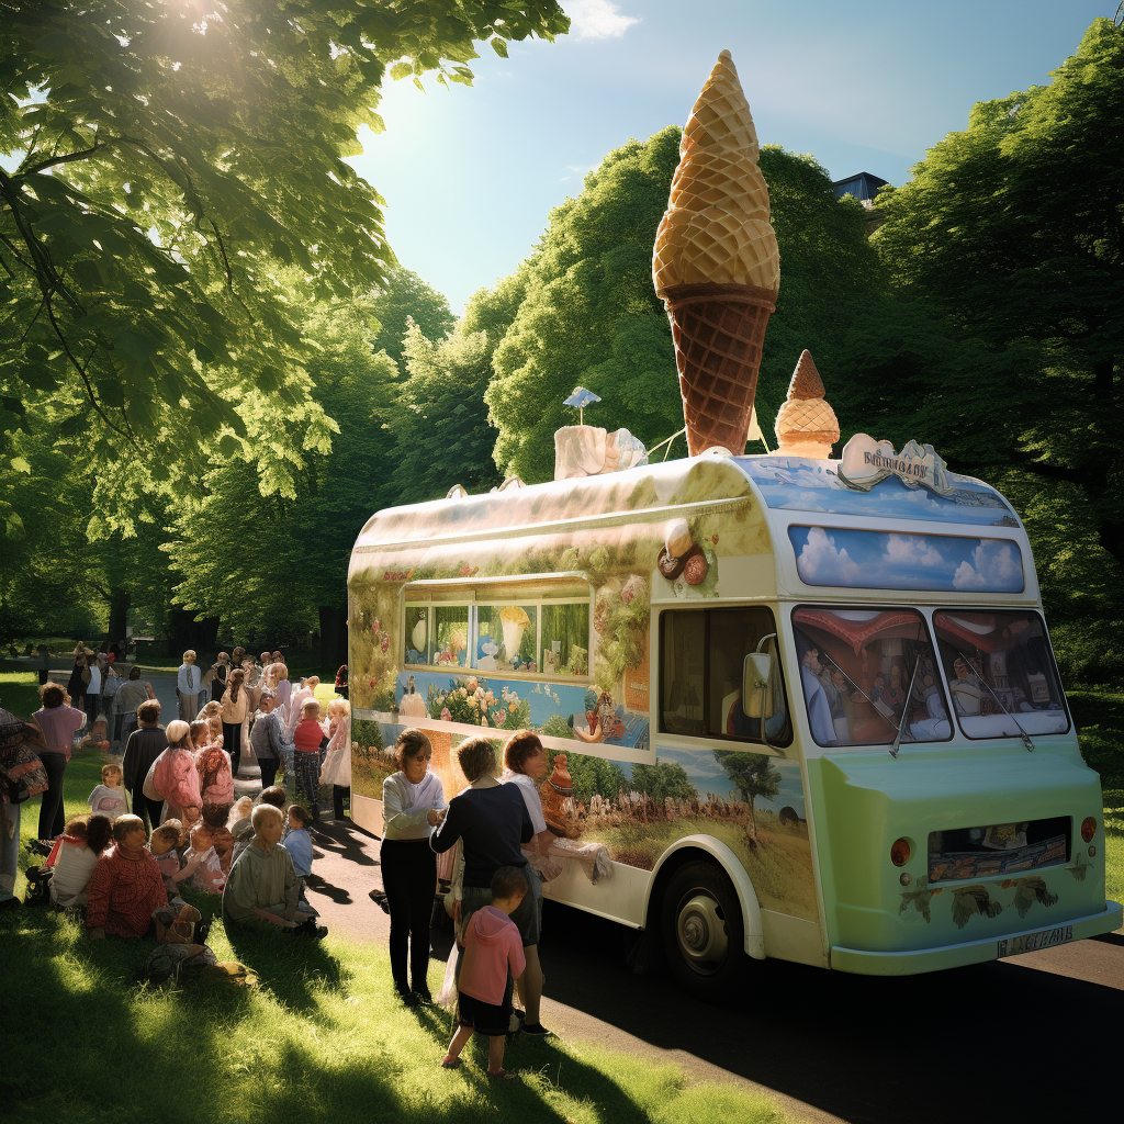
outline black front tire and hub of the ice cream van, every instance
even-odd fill
[[[660,904],[663,950],[680,987],[698,999],[727,997],[745,970],[742,904],[725,871],[689,862]]]

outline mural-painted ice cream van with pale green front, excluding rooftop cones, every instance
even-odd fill
[[[356,823],[404,727],[450,797],[462,740],[536,731],[545,896],[697,994],[746,958],[924,972],[1122,924],[1026,533],[930,446],[454,489],[373,516],[348,591]]]

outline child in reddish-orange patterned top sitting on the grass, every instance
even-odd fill
[[[115,845],[93,868],[87,890],[85,931],[93,940],[144,936],[153,910],[167,905],[164,879],[145,844],[148,833],[139,816],[118,816]]]

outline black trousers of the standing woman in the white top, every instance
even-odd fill
[[[390,906],[390,973],[399,991],[409,990],[407,949],[414,987],[426,987],[429,969],[429,918],[437,889],[437,856],[426,840],[383,840],[382,888]]]

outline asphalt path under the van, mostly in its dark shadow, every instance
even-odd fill
[[[334,933],[386,942],[379,843],[326,825],[312,903]],[[792,1116],[850,1124],[1121,1120],[1124,936],[904,979],[752,963],[724,1005],[626,963],[635,934],[544,903],[543,1022],[568,1037],[771,1094]],[[447,940],[435,932],[435,955]],[[432,978],[442,969],[436,963]]]

